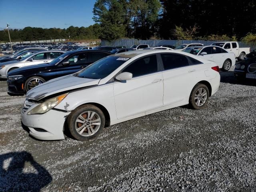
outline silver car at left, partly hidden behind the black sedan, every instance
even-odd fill
[[[50,63],[52,60],[64,54],[65,52],[66,51],[61,50],[40,51],[35,52],[34,54],[30,54],[20,60],[4,62],[0,64],[0,78],[6,78],[8,72],[20,67]]]

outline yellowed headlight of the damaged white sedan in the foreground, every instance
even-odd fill
[[[48,112],[50,109],[54,108],[56,105],[58,105],[67,95],[68,93],[48,99],[45,102],[33,108],[32,110],[30,110],[30,112],[28,112],[27,114],[44,114]]]

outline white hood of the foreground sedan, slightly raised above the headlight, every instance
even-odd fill
[[[99,81],[100,79],[75,77],[73,74],[66,75],[36,86],[27,92],[26,97],[32,100],[41,100],[56,93],[98,85]]]

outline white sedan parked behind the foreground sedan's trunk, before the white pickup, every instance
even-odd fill
[[[224,71],[228,71],[231,66],[236,64],[235,54],[233,52],[227,52],[218,46],[188,47],[183,51],[201,56],[206,60],[214,61]]]

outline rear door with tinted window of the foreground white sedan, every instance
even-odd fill
[[[190,92],[197,83],[197,74],[202,73],[200,61],[182,54],[161,54],[164,71],[164,105],[176,106],[188,102]]]

